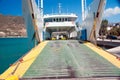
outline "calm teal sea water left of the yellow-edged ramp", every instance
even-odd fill
[[[28,38],[0,38],[0,74],[34,47]]]

